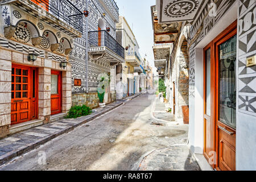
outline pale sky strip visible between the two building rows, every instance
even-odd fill
[[[153,29],[151,22],[150,6],[155,5],[156,0],[115,0],[119,8],[119,15],[125,16],[129,26],[139,44],[139,53],[150,66],[154,67]]]

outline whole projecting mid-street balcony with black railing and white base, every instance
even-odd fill
[[[100,57],[113,62],[125,62],[125,48],[115,40],[107,31],[89,32],[89,53],[92,59]]]

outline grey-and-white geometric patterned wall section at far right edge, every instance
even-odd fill
[[[246,58],[256,54],[256,1],[240,0],[238,18],[238,112],[256,116],[256,65]]]

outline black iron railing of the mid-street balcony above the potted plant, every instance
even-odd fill
[[[107,31],[92,31],[89,32],[89,47],[106,46],[117,55],[125,59],[125,48],[123,48],[117,40],[115,40]]]

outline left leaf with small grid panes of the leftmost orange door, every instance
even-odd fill
[[[31,68],[13,65],[11,71],[11,125],[31,120]]]

